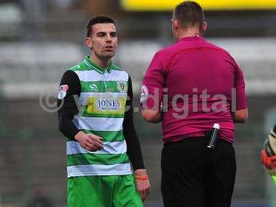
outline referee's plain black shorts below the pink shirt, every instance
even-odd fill
[[[217,140],[206,148],[204,137],[164,146],[161,155],[161,191],[165,207],[230,207],[235,184],[235,150]]]

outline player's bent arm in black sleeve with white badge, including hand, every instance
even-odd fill
[[[86,134],[78,129],[72,122],[74,115],[77,115],[79,95],[81,86],[79,77],[71,70],[66,71],[61,78],[59,86],[59,95],[57,99],[59,130],[60,132],[74,141],[79,141],[86,150],[95,151],[103,148],[101,138]]]

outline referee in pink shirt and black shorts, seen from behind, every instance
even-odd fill
[[[164,206],[229,207],[235,184],[235,123],[248,117],[243,72],[226,50],[206,41],[195,1],[176,6],[177,43],[156,52],[141,88],[142,115],[162,121]],[[207,148],[213,124],[215,148]]]

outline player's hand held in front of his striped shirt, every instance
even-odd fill
[[[81,147],[90,152],[95,152],[103,148],[103,141],[101,141],[102,138],[97,135],[78,132],[77,135],[75,135],[75,139],[79,141]]]

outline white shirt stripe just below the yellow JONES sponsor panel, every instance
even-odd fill
[[[78,129],[117,132],[123,130],[124,118],[108,117],[78,117],[74,116],[73,123]]]

